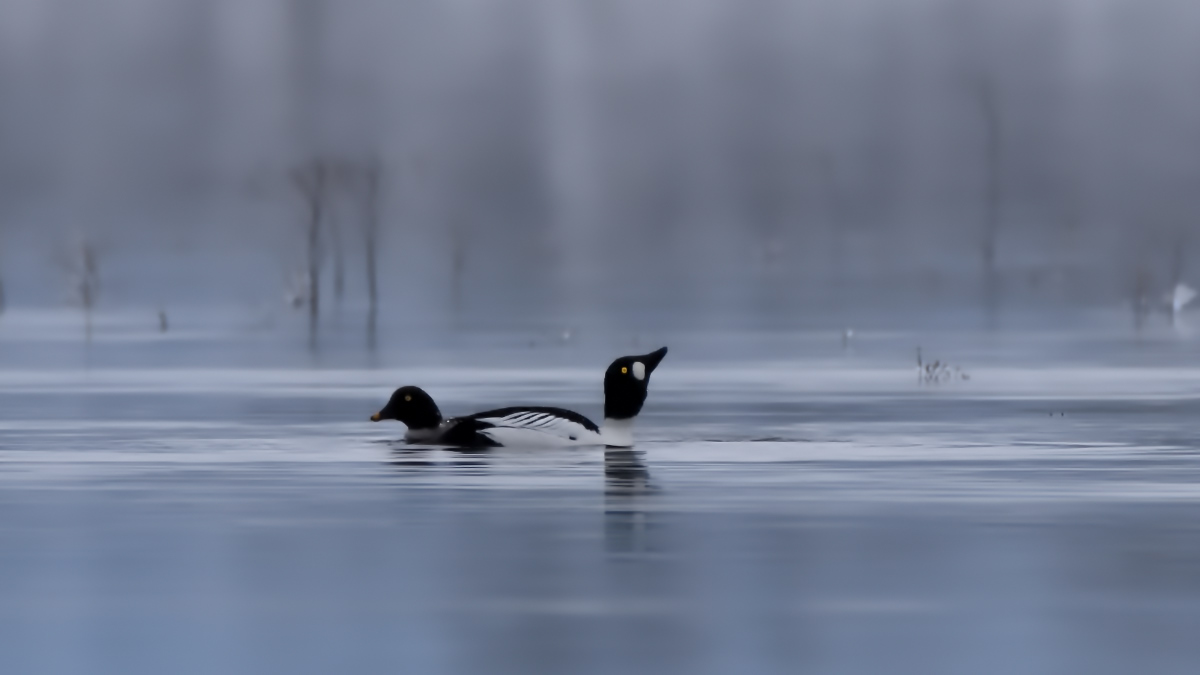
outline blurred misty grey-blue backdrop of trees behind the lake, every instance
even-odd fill
[[[1198,223],[1192,2],[0,5],[8,307],[85,249],[98,310],[324,316],[371,249],[397,321],[980,323],[1157,300]]]

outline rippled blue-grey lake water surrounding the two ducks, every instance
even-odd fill
[[[918,386],[908,335],[673,335],[636,449],[467,453],[366,418],[402,382],[598,416],[620,346],[186,365],[232,339],[52,328],[0,329],[2,673],[1200,663],[1186,338],[944,338],[970,380]]]

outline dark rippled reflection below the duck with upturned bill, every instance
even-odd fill
[[[644,453],[608,449],[604,454],[605,546],[613,554],[650,549],[653,522],[646,503],[655,494]]]

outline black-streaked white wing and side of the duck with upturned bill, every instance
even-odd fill
[[[469,420],[469,422],[468,422]],[[511,407],[462,418],[476,437],[474,444],[563,446],[599,443],[600,429],[577,412],[552,407]],[[478,442],[482,438],[491,443]]]

